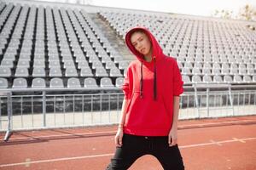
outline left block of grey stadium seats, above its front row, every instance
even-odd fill
[[[84,10],[1,3],[1,11],[0,77],[124,77],[129,62]]]

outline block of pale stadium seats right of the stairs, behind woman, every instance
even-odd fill
[[[256,32],[241,21],[179,18],[167,14],[99,13],[117,34],[145,26],[163,52],[177,59],[185,84],[255,82]]]

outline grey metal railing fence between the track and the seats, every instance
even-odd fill
[[[0,131],[109,125],[119,122],[124,99],[117,88],[0,91]],[[93,92],[97,89],[90,89]],[[193,86],[180,98],[179,119],[256,114],[255,89]],[[8,138],[8,134],[6,138]]]

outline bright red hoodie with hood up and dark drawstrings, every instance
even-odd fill
[[[131,34],[142,30],[152,43],[151,62],[131,44]],[[167,136],[172,127],[173,97],[183,93],[183,81],[177,61],[163,54],[154,36],[143,27],[127,32],[125,42],[137,56],[128,66],[123,84],[128,105],[124,133],[139,136]]]

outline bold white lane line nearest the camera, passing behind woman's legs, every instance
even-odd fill
[[[218,141],[218,144],[224,144],[224,143],[232,143],[232,142],[239,142],[240,140],[246,141],[246,140],[256,140],[256,137],[254,138],[247,138],[247,139],[230,139],[230,140],[223,140]],[[185,148],[194,148],[194,147],[200,147],[200,146],[207,146],[207,145],[214,145],[216,144],[215,141],[209,142],[209,143],[202,143],[202,144],[188,144],[188,145],[182,145],[179,146],[180,149]],[[76,157],[62,157],[62,158],[56,158],[56,159],[49,159],[49,160],[39,160],[39,161],[29,161],[29,164],[37,164],[37,163],[45,163],[45,162],[54,162],[54,161],[68,161],[68,160],[79,160],[79,159],[87,159],[87,158],[96,158],[96,157],[104,157],[104,156],[113,156],[113,153],[108,154],[100,154],[100,155],[92,155],[92,156],[76,156]],[[25,162],[19,162],[19,163],[9,163],[9,164],[3,164],[0,165],[0,167],[15,167],[15,166],[26,166],[27,161]]]

